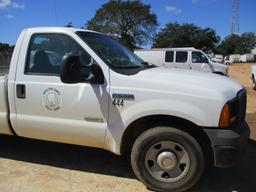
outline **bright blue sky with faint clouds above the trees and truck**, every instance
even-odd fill
[[[107,0],[0,0],[0,42],[15,44],[28,27],[82,27]],[[158,31],[169,22],[211,27],[223,39],[230,34],[232,0],[142,0],[157,15]],[[256,33],[256,1],[240,0],[239,32]]]

